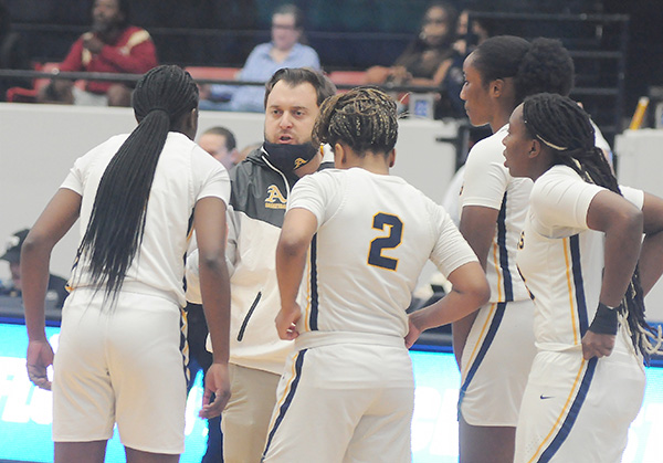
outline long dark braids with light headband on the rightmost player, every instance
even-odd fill
[[[585,181],[621,196],[608,160],[596,147],[589,116],[576,102],[547,93],[529,96],[523,103],[523,119],[528,134],[551,148],[556,165],[568,166]],[[661,346],[661,334],[645,322],[643,296],[636,266],[619,311],[628,322],[633,347],[649,361]]]

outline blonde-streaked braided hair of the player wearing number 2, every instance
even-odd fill
[[[355,154],[383,152],[396,146],[397,106],[393,98],[373,87],[357,87],[332,96],[320,106],[313,136],[316,143],[347,144]]]

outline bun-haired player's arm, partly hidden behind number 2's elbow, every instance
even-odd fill
[[[498,214],[499,211],[497,209],[485,208],[483,206],[465,206],[461,212],[459,230],[478,257],[484,273]],[[465,348],[465,343],[467,341],[467,336],[475,318],[476,311],[452,324],[453,351],[459,366],[461,365],[461,356],[463,355],[463,349]]]

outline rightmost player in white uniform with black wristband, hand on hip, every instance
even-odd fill
[[[517,263],[538,352],[515,462],[619,462],[644,394],[643,357],[660,347],[643,295],[663,272],[663,200],[618,186],[568,97],[526,98],[503,143],[511,175],[534,180]]]

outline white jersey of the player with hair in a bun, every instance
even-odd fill
[[[516,246],[527,212],[532,180],[513,178],[504,167],[504,145],[508,125],[478,141],[467,156],[461,190],[461,209],[481,206],[499,211],[493,243],[486,261],[491,302],[524,301],[527,288],[516,267]]]

